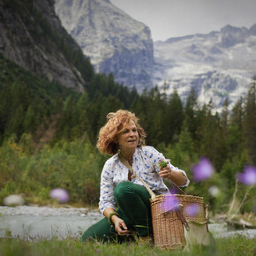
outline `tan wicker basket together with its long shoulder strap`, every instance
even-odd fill
[[[132,173],[133,177],[138,177],[139,180],[145,185],[147,191],[151,195],[151,212],[152,212],[152,225],[154,233],[154,245],[160,248],[169,248],[170,250],[175,250],[177,247],[184,247],[186,245],[185,235],[189,238],[188,232],[184,231],[184,225],[188,228],[187,222],[200,223],[205,225],[205,231],[207,231],[207,217],[204,207],[203,198],[186,195],[175,183],[172,183],[177,190],[183,192],[184,194],[175,195],[155,195],[154,192],[148,187],[145,181],[139,177],[136,172],[132,169],[130,164],[124,158],[122,154],[118,154],[121,162],[124,163]],[[178,210],[171,208],[169,201],[177,200],[174,204],[178,206]],[[187,207],[196,206],[196,214],[189,215],[186,211]],[[191,225],[193,226],[193,225]],[[194,229],[192,229],[194,231]],[[190,231],[191,232],[191,231]],[[201,230],[196,230],[195,236],[201,232]],[[206,232],[201,232],[201,237],[204,237]],[[201,238],[200,237],[200,238]],[[207,237],[207,236],[206,236]],[[202,239],[201,239],[202,240]],[[201,244],[202,241],[197,243]]]

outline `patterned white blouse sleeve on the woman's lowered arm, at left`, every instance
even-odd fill
[[[115,200],[114,200],[114,184],[113,177],[111,175],[111,165],[108,161],[105,163],[102,169],[101,176],[101,195],[99,202],[99,209],[103,214],[104,210],[108,207],[115,209]]]

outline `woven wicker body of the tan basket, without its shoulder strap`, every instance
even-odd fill
[[[158,195],[151,199],[152,224],[154,232],[154,245],[160,248],[176,250],[177,247],[184,247],[184,225],[177,216],[175,210],[169,207],[168,202],[177,200],[184,219],[187,222],[206,223],[206,212],[203,198],[192,195]],[[185,210],[189,206],[196,206],[194,215],[188,215]],[[207,225],[207,223],[206,223]]]

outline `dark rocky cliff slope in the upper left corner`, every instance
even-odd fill
[[[94,70],[53,1],[0,0],[0,53],[27,71],[82,92]]]

